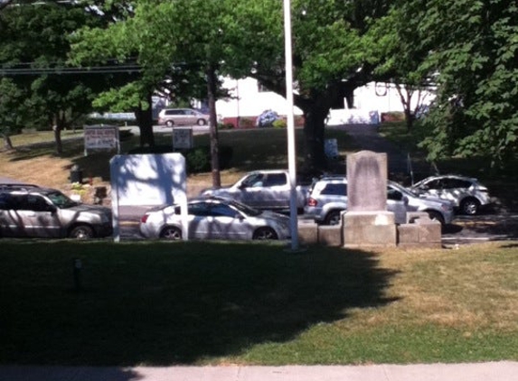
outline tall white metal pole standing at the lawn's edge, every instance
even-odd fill
[[[297,151],[295,145],[295,117],[293,115],[293,65],[291,52],[291,1],[284,0],[284,42],[286,60],[287,100],[287,169],[289,173],[290,197],[289,218],[291,228],[291,249],[298,249],[297,221]]]

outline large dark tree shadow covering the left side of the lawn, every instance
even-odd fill
[[[331,247],[300,255],[206,242],[3,247],[4,364],[217,363],[347,319],[351,309],[390,303],[396,274],[375,255]],[[83,264],[80,292],[73,258]]]

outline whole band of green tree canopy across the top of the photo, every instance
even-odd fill
[[[217,79],[230,75],[258,79],[286,95],[278,0],[89,2],[95,8],[74,2],[13,3],[0,2],[0,64],[4,73],[30,71],[4,74],[0,86],[17,91],[3,93],[0,107],[19,104],[29,112],[16,118],[4,114],[3,125],[17,128],[24,118],[43,116],[59,132],[74,115],[88,112],[95,98],[96,107],[136,111],[141,144],[153,144],[150,97],[155,91],[172,99],[213,101]],[[424,122],[430,137],[422,146],[430,160],[482,154],[505,163],[515,157],[515,1],[292,0],[291,8],[294,100],[305,116],[307,167],[325,167],[330,108],[344,102],[353,107],[355,88],[389,79],[410,90],[429,83],[437,87]],[[124,72],[65,75],[70,62],[81,68],[114,65]]]

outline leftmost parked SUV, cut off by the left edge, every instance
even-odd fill
[[[71,200],[60,190],[0,185],[0,237],[108,237],[111,209]]]

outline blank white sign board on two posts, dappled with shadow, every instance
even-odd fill
[[[113,234],[119,239],[119,206],[180,204],[188,237],[185,158],[181,153],[116,155],[109,162]]]

